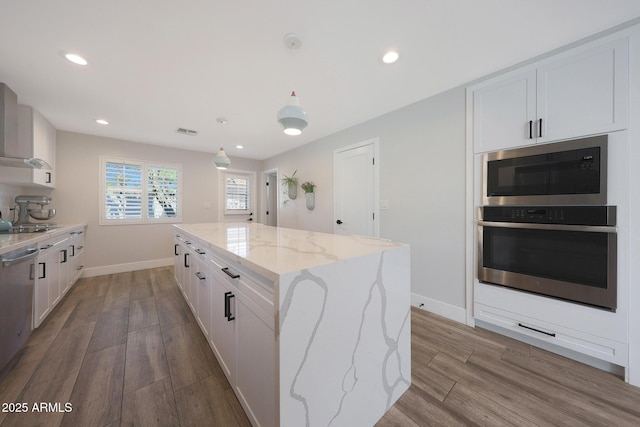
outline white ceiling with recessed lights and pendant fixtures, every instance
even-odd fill
[[[638,16],[638,0],[0,0],[0,81],[57,129],[264,159]],[[298,137],[275,119],[293,89]]]

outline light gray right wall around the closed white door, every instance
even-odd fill
[[[277,168],[285,175],[297,170],[300,182],[310,180],[318,186],[315,209],[308,211],[299,196],[281,207],[280,226],[332,232],[333,151],[376,137],[380,199],[389,201],[389,209],[380,211],[380,237],[411,245],[414,304],[464,310],[463,87],[265,160],[263,170]]]

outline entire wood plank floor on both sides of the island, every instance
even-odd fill
[[[414,309],[412,386],[386,426],[638,426],[640,389]],[[249,426],[171,267],[81,279],[0,372],[1,426]],[[297,427],[297,426],[294,426]]]

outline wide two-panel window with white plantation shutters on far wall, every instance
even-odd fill
[[[180,165],[101,157],[100,224],[180,222]]]

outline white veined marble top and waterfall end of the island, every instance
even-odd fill
[[[273,284],[277,419],[256,425],[369,427],[409,388],[408,245],[261,224],[175,228]]]

